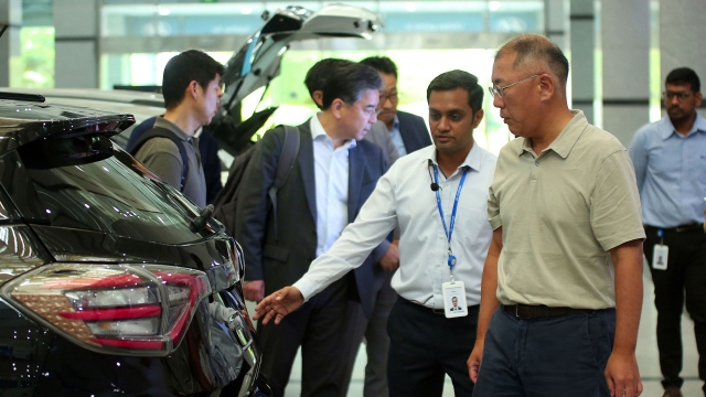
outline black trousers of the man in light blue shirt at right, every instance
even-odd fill
[[[670,247],[666,270],[652,268],[654,245],[660,244],[657,229],[645,227],[648,239],[644,256],[654,282],[654,305],[657,309],[657,347],[662,385],[682,387],[683,365],[682,312],[694,320],[698,350],[698,377],[706,382],[706,233],[704,230],[665,232],[664,244]],[[706,385],[704,386],[706,393]]]

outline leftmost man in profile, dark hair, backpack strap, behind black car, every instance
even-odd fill
[[[167,111],[132,149],[137,160],[200,207],[206,205],[206,182],[193,135],[207,126],[218,109],[222,74],[223,65],[202,51],[189,50],[172,57],[162,78]]]

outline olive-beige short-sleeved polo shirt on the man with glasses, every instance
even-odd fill
[[[500,152],[488,216],[502,226],[503,304],[616,305],[610,249],[644,238],[634,169],[612,135],[580,110],[537,155],[517,138]]]

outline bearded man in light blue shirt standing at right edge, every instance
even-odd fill
[[[685,301],[700,353],[698,376],[706,380],[706,120],[696,112],[700,104],[696,73],[688,67],[670,72],[666,116],[640,128],[630,144],[648,235],[644,256],[654,282],[660,367],[667,397],[682,396]]]

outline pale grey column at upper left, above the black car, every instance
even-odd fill
[[[54,1],[57,88],[98,87],[98,0]]]

